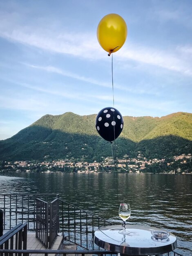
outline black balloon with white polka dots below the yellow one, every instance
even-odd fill
[[[123,117],[116,108],[103,108],[98,112],[95,127],[103,139],[114,141],[123,130]]]

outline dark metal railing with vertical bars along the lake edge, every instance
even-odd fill
[[[36,198],[48,204],[48,202],[58,198],[58,194],[0,194],[0,209],[3,210],[4,217],[3,229],[9,230],[19,222],[27,222],[29,231],[35,232],[40,228],[40,234],[45,232],[43,225],[41,227],[37,226],[36,229]],[[59,229],[63,237],[85,249],[97,249],[98,247],[92,243],[94,231],[101,226],[112,225],[112,222],[84,211],[64,200],[59,199],[58,204]],[[54,209],[53,212],[55,212]],[[38,213],[42,214],[42,211]],[[45,216],[41,217],[46,218]],[[55,217],[51,219],[53,219],[53,222],[55,221]],[[51,237],[57,231],[58,227],[53,230]],[[42,243],[46,245],[45,240]]]

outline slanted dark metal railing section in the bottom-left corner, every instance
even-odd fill
[[[9,230],[4,235],[2,235],[0,237],[0,249],[1,250],[2,249],[26,250],[27,249],[27,223],[25,223],[25,224],[20,223],[13,229]],[[1,252],[0,256],[2,256],[2,255],[8,256],[8,253],[3,254]],[[11,255],[11,254],[9,254],[9,255]],[[18,256],[20,256],[20,255],[21,254],[18,254]]]

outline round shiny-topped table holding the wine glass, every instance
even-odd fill
[[[177,247],[176,237],[170,233],[165,239],[154,238],[151,232],[161,230],[155,227],[141,225],[126,225],[128,235],[119,234],[121,225],[100,227],[94,233],[94,242],[103,249],[126,255],[154,255],[171,252]]]

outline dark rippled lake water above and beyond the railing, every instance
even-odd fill
[[[10,173],[0,193],[59,193],[60,198],[106,220],[129,202],[130,224],[162,227],[178,239],[177,251],[192,255],[192,175],[112,173]],[[184,251],[184,252],[183,252]]]

